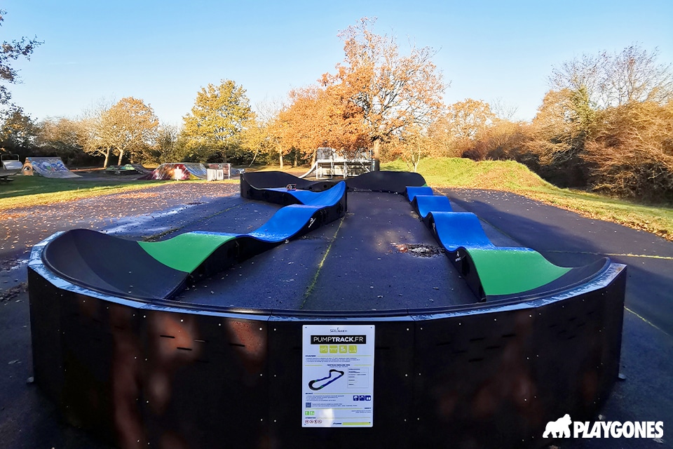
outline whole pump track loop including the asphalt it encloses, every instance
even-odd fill
[[[547,422],[590,420],[609,395],[623,265],[496,246],[416,173],[258,172],[240,186],[255,212],[276,210],[250,232],[137,242],[75,229],[34,247],[34,379],[69,422],[194,448],[532,448]],[[444,255],[391,252],[390,235]],[[376,328],[373,425],[302,427],[302,327],[354,323]],[[349,376],[334,367],[307,387],[327,394]]]

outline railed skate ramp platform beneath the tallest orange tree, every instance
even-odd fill
[[[372,151],[359,149],[356,152],[340,152],[329,147],[320,147],[315,151],[313,166],[301,175],[301,178],[315,173],[319,180],[340,176],[359,176],[374,170]]]

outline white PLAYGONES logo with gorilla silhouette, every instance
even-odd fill
[[[664,436],[662,421],[573,421],[566,414],[545,427],[543,438],[661,438]]]

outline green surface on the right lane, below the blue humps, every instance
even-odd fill
[[[511,295],[533,290],[570,271],[537,251],[468,248],[486,295]]]

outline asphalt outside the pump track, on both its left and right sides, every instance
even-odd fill
[[[538,250],[557,264],[584,264],[608,255],[628,265],[621,360],[625,380],[616,384],[601,410],[601,419],[663,421],[664,437],[659,441],[565,440],[557,445],[562,449],[673,448],[673,434],[669,431],[673,429],[673,243],[515,194],[479,190],[444,193],[456,210],[476,213],[496,244],[515,241]],[[106,447],[86,433],[62,424],[53,406],[31,383],[28,300],[21,286],[26,271],[23,261],[34,243],[53,232],[75,227],[134,239],[163,236],[205,229],[229,215],[245,219],[228,218],[230,228],[226,231],[245,232],[256,227],[250,217],[261,212],[261,207],[254,204],[240,199],[238,185],[175,182],[137,194],[2,213],[0,448]],[[233,211],[238,214],[231,214]]]

